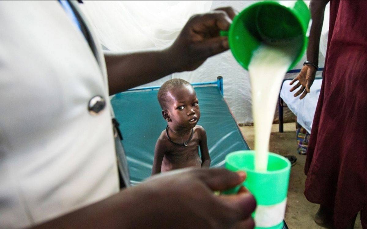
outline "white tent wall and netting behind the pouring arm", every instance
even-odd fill
[[[106,49],[132,51],[167,47],[179,34],[191,15],[231,6],[241,11],[256,1],[84,1],[84,10]],[[309,4],[309,1],[306,1]],[[164,13],[162,13],[164,12]],[[325,61],[328,6],[320,41],[319,66]],[[295,66],[302,68],[306,55]],[[190,83],[206,82],[213,75],[224,77],[224,97],[238,123],[251,124],[251,86],[248,72],[233,58],[230,51],[209,58],[195,71],[174,73],[144,86],[157,86],[171,78]],[[297,73],[287,74],[294,78]]]

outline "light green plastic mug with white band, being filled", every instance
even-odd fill
[[[255,196],[257,208],[252,214],[255,228],[282,228],[287,204],[291,163],[278,154],[269,152],[267,171],[255,171],[255,151],[236,151],[226,156],[226,169],[246,171],[243,185]],[[224,194],[237,193],[240,186]]]

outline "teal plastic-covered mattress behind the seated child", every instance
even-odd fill
[[[249,149],[248,145],[218,87],[197,86],[195,91],[201,111],[198,125],[207,132],[211,167],[224,167],[227,154]],[[157,93],[158,90],[128,91],[111,99],[133,185],[150,176],[157,138],[167,126]]]

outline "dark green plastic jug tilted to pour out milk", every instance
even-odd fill
[[[306,50],[309,21],[310,11],[302,0],[259,1],[235,16],[229,30],[221,31],[221,35],[228,36],[233,56],[246,70],[259,45],[284,45],[297,40],[298,55],[289,70],[301,60]]]

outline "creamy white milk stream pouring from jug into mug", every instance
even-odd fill
[[[274,111],[284,75],[295,57],[294,47],[297,47],[294,43],[283,47],[262,44],[253,53],[248,66],[257,171],[266,171],[268,167],[269,139]]]

